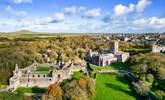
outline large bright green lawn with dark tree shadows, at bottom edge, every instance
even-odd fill
[[[98,74],[95,100],[136,100],[136,95],[124,76]]]

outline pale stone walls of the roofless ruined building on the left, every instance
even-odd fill
[[[10,78],[9,89],[15,90],[17,87],[35,86],[48,87],[50,84],[56,83],[57,81],[62,82],[64,79],[71,78],[71,75],[74,71],[80,71],[81,69],[81,67],[73,65],[68,67],[68,65],[66,64],[66,66],[64,66],[62,69],[57,70],[56,68],[54,68],[52,72],[40,73],[36,72],[33,67],[34,66],[28,66],[24,69],[18,69],[18,67],[16,67],[16,69],[13,71],[13,77]]]

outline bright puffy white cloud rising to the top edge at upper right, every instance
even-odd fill
[[[120,16],[130,12],[143,12],[149,4],[151,4],[149,0],[139,0],[137,4],[129,4],[129,6],[118,4],[114,7],[114,13],[116,16]]]

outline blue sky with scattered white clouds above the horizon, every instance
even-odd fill
[[[0,31],[165,32],[165,0],[0,0]]]

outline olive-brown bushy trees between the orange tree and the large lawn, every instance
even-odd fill
[[[95,80],[86,76],[67,83],[63,90],[64,100],[89,100],[95,94]]]

